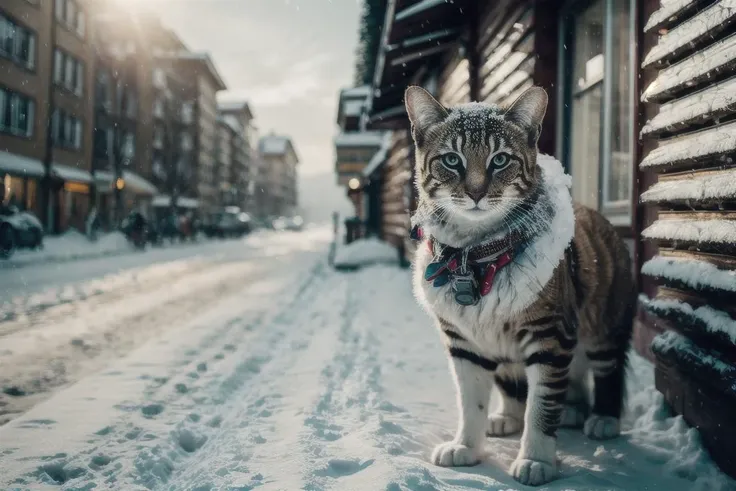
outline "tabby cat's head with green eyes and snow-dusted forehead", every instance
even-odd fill
[[[484,103],[448,110],[420,87],[409,87],[405,100],[420,199],[438,216],[492,227],[525,206],[541,181],[543,89],[529,89],[507,111]]]

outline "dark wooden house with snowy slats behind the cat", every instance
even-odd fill
[[[544,87],[540,151],[634,258],[636,349],[736,475],[736,0],[388,0],[379,50],[368,127],[391,136],[366,183],[381,237],[411,250],[408,85],[445,105]]]

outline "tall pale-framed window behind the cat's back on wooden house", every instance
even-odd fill
[[[631,223],[634,153],[635,0],[572,4],[561,40],[570,54],[558,151],[573,177],[574,198],[616,225]]]

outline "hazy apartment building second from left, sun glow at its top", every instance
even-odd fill
[[[94,48],[94,202],[104,224],[147,208],[152,178],[153,57],[138,18],[112,2],[90,4]]]

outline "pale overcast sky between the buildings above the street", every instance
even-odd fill
[[[135,2],[190,49],[210,52],[229,89],[221,100],[248,100],[261,134],[293,138],[300,174],[334,169],[337,95],[353,78],[359,0]]]

